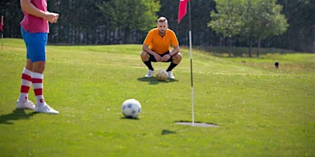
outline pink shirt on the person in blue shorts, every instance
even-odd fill
[[[47,0],[31,0],[31,3],[44,12],[47,12]],[[24,12],[24,18],[21,21],[21,26],[25,31],[30,33],[49,33],[48,21],[44,18],[38,18],[27,12]]]

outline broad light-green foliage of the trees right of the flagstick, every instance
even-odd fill
[[[281,14],[281,5],[275,0],[268,1],[216,1],[216,11],[212,11],[212,20],[208,24],[224,37],[261,40],[270,36],[281,35],[288,27],[286,18]],[[251,46],[251,43],[250,45]],[[250,49],[251,50],[251,49]],[[257,53],[259,56],[259,53]],[[251,51],[249,51],[251,56]]]

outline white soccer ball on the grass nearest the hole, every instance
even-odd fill
[[[141,104],[136,99],[128,99],[121,106],[123,115],[127,118],[136,118],[141,112]]]

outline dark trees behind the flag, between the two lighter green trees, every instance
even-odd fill
[[[208,29],[207,22],[210,21],[210,12],[214,10],[213,0],[190,0],[191,28],[189,25],[189,12],[177,23],[179,0],[160,0],[161,9],[159,16],[168,18],[168,27],[175,31],[181,46],[189,45],[188,31],[192,32],[192,45],[198,48],[215,46],[220,38],[212,29]],[[188,9],[188,8],[187,8]]]

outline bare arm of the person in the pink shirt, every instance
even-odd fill
[[[21,2],[21,8],[24,12],[27,12],[27,14],[31,14],[33,16],[44,18],[49,23],[57,23],[59,14],[53,13],[53,12],[44,12],[42,10],[39,10],[36,8],[30,0],[20,0]]]

